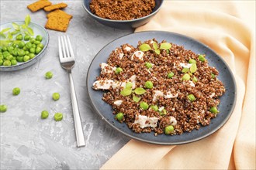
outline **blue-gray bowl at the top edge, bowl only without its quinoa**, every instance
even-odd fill
[[[116,29],[135,29],[139,26],[143,26],[144,24],[146,24],[147,22],[150,21],[150,19],[157,14],[157,12],[159,11],[159,9],[161,8],[161,5],[163,4],[164,0],[156,0],[156,5],[153,9],[153,12],[150,13],[150,15],[144,16],[140,19],[132,19],[132,20],[112,20],[112,19],[103,19],[100,18],[97,15],[94,15],[91,12],[90,9],[90,2],[92,0],[83,0],[83,7],[85,8],[85,11],[88,12],[88,14],[90,16],[92,16],[93,19],[95,19],[96,21],[102,23],[105,26],[110,26]]]

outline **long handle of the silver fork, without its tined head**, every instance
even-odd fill
[[[84,137],[83,129],[81,127],[81,117],[78,109],[78,100],[74,90],[74,81],[71,74],[71,70],[67,71],[67,73],[69,76],[69,82],[71,87],[71,100],[72,100],[73,115],[74,115],[74,131],[77,138],[77,145],[78,147],[82,147],[82,146],[85,146],[85,137]]]

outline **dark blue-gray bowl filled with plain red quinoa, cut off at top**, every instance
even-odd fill
[[[92,19],[117,29],[143,26],[157,14],[163,0],[84,0],[83,7]]]

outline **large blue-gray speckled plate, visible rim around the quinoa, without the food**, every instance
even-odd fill
[[[120,45],[123,45],[124,43],[137,46],[138,41],[144,41],[153,38],[157,39],[158,42],[166,40],[168,42],[178,44],[179,46],[184,46],[185,49],[191,49],[194,53],[206,54],[206,59],[209,61],[209,66],[214,66],[217,70],[219,70],[220,75],[218,76],[218,79],[223,82],[226,88],[226,93],[220,97],[220,105],[218,107],[220,114],[216,118],[212,119],[209,126],[201,127],[199,130],[193,130],[190,133],[185,132],[182,135],[170,136],[159,134],[154,136],[154,132],[137,134],[130,130],[126,124],[121,124],[119,121],[115,120],[115,117],[112,114],[112,107],[102,100],[102,94],[106,92],[92,89],[92,84],[95,82],[96,76],[99,76],[100,74],[99,64],[103,62],[106,63],[112,50],[116,49],[116,47],[119,47]],[[229,119],[234,110],[237,97],[237,87],[230,68],[227,66],[227,63],[225,63],[225,61],[212,49],[188,36],[182,36],[173,32],[159,31],[137,32],[109,42],[109,44],[102,48],[92,60],[87,75],[87,88],[88,95],[91,99],[92,106],[95,108],[95,111],[100,115],[100,117],[102,117],[102,119],[110,124],[112,128],[115,128],[117,131],[125,134],[130,138],[159,145],[186,144],[192,141],[198,141],[202,138],[206,138],[210,134],[213,134],[218,129],[220,129]]]

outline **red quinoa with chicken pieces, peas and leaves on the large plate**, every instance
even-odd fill
[[[207,56],[149,39],[114,49],[93,89],[104,90],[116,121],[136,133],[182,134],[209,125],[225,92]]]

